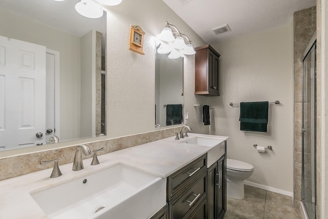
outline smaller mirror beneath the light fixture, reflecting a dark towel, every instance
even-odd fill
[[[155,127],[183,124],[183,58],[156,53]]]

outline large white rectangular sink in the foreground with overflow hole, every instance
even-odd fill
[[[49,218],[146,219],[165,206],[166,182],[118,164],[31,196]]]

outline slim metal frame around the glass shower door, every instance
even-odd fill
[[[314,36],[312,37],[308,47],[306,47],[306,50],[305,50],[305,55],[304,55],[304,58],[302,59],[302,187],[301,187],[301,190],[302,190],[302,194],[301,194],[301,202],[302,202],[302,205],[304,207],[304,210],[305,210],[305,213],[306,213],[306,216],[308,218],[312,218],[312,217],[309,217],[309,213],[308,213],[308,209],[306,208],[306,205],[305,205],[305,200],[304,200],[304,197],[305,197],[305,165],[304,165],[304,139],[306,136],[305,135],[305,132],[306,132],[306,127],[304,127],[304,66],[303,66],[303,63],[304,63],[304,60],[306,57],[308,57],[308,55],[310,54],[310,52],[312,51],[312,49],[314,48],[314,59],[315,59],[315,64],[314,64],[314,164],[312,164],[311,162],[311,165],[314,165],[314,218],[316,218],[316,210],[317,210],[317,183],[316,183],[316,176],[317,176],[317,161],[316,161],[316,153],[317,153],[317,148],[316,148],[316,145],[317,145],[317,121],[316,121],[316,118],[317,118],[317,68],[316,68],[316,48],[317,48],[317,44],[316,44],[316,33],[314,34]],[[312,95],[312,93],[311,93]],[[313,97],[313,96],[311,96]],[[311,115],[312,116],[312,115]],[[312,127],[311,127],[312,128]],[[311,151],[312,153],[312,151]],[[312,186],[311,186],[311,189],[312,189]]]

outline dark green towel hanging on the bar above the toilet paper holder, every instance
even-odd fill
[[[241,102],[240,130],[267,132],[269,102]]]

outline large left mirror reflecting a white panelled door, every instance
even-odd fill
[[[106,13],[78,2],[0,2],[0,150],[106,134]]]

